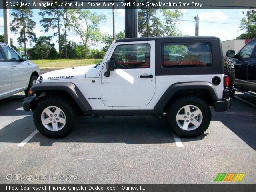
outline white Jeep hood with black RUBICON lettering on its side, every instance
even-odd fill
[[[58,79],[72,79],[72,78],[85,78],[86,70],[94,68],[95,65],[66,68],[60,70],[54,70],[45,74],[42,74],[44,80],[58,80]],[[38,78],[39,80],[39,78]]]

